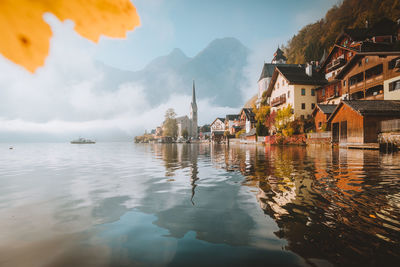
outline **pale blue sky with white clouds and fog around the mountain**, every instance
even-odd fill
[[[252,50],[245,68],[249,80],[257,76],[264,60],[270,60],[279,44],[307,23],[321,18],[336,0],[135,0],[142,26],[127,39],[102,38],[98,44],[73,31],[73,23],[61,23],[45,15],[53,37],[44,67],[35,74],[0,55],[0,141],[69,141],[78,136],[98,140],[128,140],[163,120],[169,107],[188,114],[190,96],[173,95],[150,107],[141,84],[119,85],[99,91],[104,73],[96,61],[120,69],[139,70],[155,57],[181,48],[194,56],[215,38],[235,37]],[[251,83],[250,83],[251,84]],[[182,105],[182,103],[188,103]],[[198,103],[199,124],[217,116],[238,112]]]

